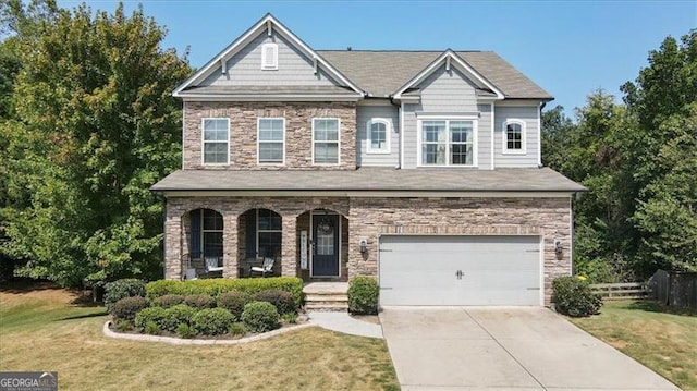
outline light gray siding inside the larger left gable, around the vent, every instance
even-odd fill
[[[278,70],[261,70],[261,46],[278,45]],[[228,60],[228,72],[218,68],[200,83],[201,86],[332,86],[335,85],[321,69],[315,74],[311,59],[273,33],[260,34]]]

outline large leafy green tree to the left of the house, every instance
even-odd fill
[[[26,260],[20,274],[65,285],[158,272],[162,203],[148,187],[181,159],[170,91],[188,64],[160,48],[166,30],[142,10],[11,3],[3,26],[22,66],[0,125],[2,252]]]

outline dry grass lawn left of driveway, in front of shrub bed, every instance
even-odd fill
[[[61,390],[399,390],[383,340],[319,328],[232,346],[102,335],[103,307],[64,290],[0,291],[0,370],[58,371]]]

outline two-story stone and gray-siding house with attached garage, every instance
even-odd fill
[[[381,305],[543,305],[571,273],[584,187],[541,167],[552,97],[494,52],[314,50],[269,14],[173,95],[168,279],[272,257]]]

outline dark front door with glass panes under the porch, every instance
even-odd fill
[[[339,215],[313,216],[313,276],[339,277]]]

